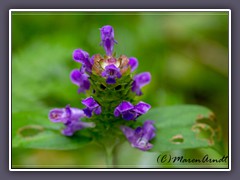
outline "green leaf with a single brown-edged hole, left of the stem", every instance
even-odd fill
[[[52,123],[47,110],[12,114],[12,147],[51,150],[77,149],[91,142],[86,131],[71,137],[61,134],[63,124]]]

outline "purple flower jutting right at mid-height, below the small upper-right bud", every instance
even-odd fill
[[[143,72],[141,74],[137,74],[133,78],[132,91],[136,93],[136,95],[142,95],[141,88],[147,85],[151,81],[151,74],[149,72]]]

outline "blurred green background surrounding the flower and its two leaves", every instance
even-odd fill
[[[72,60],[72,52],[82,48],[90,55],[103,55],[99,45],[103,25],[114,27],[117,55],[138,58],[136,73],[152,74],[139,99],[152,107],[199,104],[210,108],[222,126],[227,154],[227,12],[12,12],[12,114],[48,112],[66,104],[82,108],[80,100],[85,95],[77,94],[77,86],[69,79],[70,71],[79,67]],[[12,119],[13,129],[18,121]],[[43,121],[49,121],[47,113]],[[171,153],[221,157],[211,149]],[[118,163],[123,167],[151,167],[157,164],[158,155],[143,153],[126,143],[119,150]],[[104,164],[104,154],[95,145],[74,151],[12,151],[12,165],[17,168]]]

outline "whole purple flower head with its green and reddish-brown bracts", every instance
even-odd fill
[[[84,128],[94,128],[95,134],[99,132],[98,136],[101,136],[109,132],[111,127],[111,132],[122,131],[133,147],[149,150],[153,146],[149,141],[155,136],[154,122],[146,120],[142,126],[133,127],[137,118],[151,108],[143,101],[134,103],[134,97],[142,95],[142,87],[151,81],[151,74],[143,72],[132,77],[138,60],[125,55],[115,56],[113,50],[117,41],[111,26],[103,26],[100,33],[100,45],[106,55],[95,54],[90,57],[83,49],[73,52],[74,61],[80,63],[81,67],[70,73],[70,79],[78,86],[78,93],[90,94],[90,97],[81,101],[85,108],[55,108],[50,111],[49,119],[63,123],[65,129],[62,134],[66,136],[72,136]],[[83,122],[83,118],[88,122]]]

